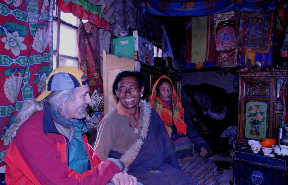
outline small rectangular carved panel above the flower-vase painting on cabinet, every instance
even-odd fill
[[[245,97],[270,97],[270,82],[245,82]]]

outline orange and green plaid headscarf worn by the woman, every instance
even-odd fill
[[[157,84],[161,78],[167,78],[170,80],[170,78],[163,75],[155,82],[153,89],[152,89],[150,104],[161,117],[164,123],[164,126],[169,134],[170,139],[171,139],[171,132],[172,132],[173,125],[176,126],[177,133],[186,135],[187,125],[184,122],[184,109],[182,107],[181,99],[176,93],[176,90],[174,89],[174,87],[173,87],[171,108],[169,105],[165,104],[163,100],[161,100],[155,93]],[[171,84],[173,84],[172,81],[171,81]]]

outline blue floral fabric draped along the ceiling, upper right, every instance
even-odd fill
[[[144,0],[143,10],[158,16],[204,16],[237,11],[265,13],[277,7],[276,0]]]

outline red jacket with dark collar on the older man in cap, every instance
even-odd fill
[[[9,147],[6,163],[6,184],[107,184],[119,172],[110,160],[100,158],[82,135],[91,170],[76,173],[67,164],[67,138],[61,135],[49,111],[41,111],[26,120]]]

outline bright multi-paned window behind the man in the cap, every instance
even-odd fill
[[[80,19],[72,13],[53,12],[53,69],[59,66],[78,68],[77,28]]]

